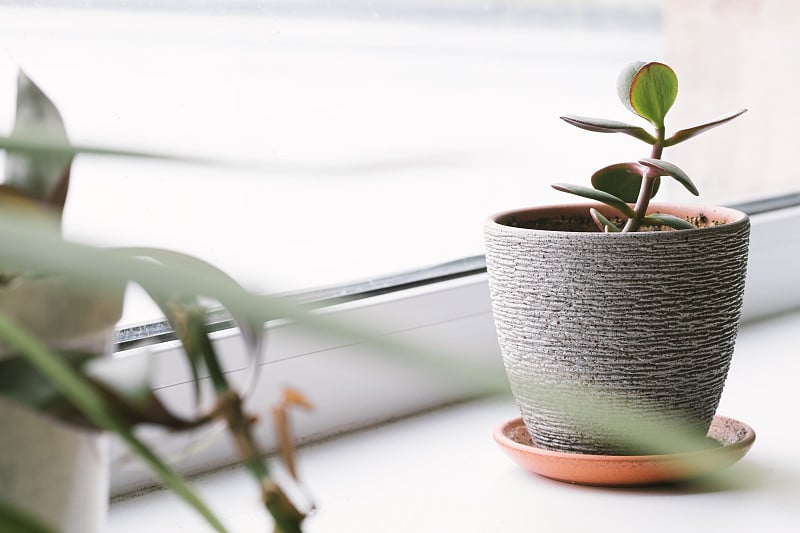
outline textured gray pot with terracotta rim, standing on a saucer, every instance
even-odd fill
[[[661,204],[651,212],[708,227],[603,234],[589,207],[613,215],[542,207],[485,228],[500,349],[534,443],[613,455],[654,453],[642,432],[667,424],[705,435],[736,338],[747,216]]]

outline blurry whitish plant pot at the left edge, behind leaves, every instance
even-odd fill
[[[54,351],[109,354],[121,311],[122,291],[98,295],[60,277],[0,289],[0,313]],[[0,342],[0,371],[13,357]],[[108,444],[100,432],[44,416],[0,390],[0,500],[61,533],[103,532]]]

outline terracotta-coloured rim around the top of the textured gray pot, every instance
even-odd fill
[[[569,213],[574,215],[579,215],[582,213],[588,213],[590,208],[599,209],[604,214],[610,213],[613,214],[614,210],[609,208],[608,206],[597,203],[597,202],[585,202],[585,203],[569,203],[569,204],[549,204],[549,205],[541,205],[541,206],[532,206],[532,207],[522,207],[517,209],[510,209],[507,211],[501,211],[499,213],[495,213],[491,215],[488,220],[486,221],[486,225],[490,227],[494,227],[495,229],[502,228],[503,231],[508,232],[516,232],[521,234],[531,234],[531,233],[545,233],[545,234],[580,234],[584,238],[648,238],[652,237],[653,235],[659,235],[662,238],[666,235],[685,235],[687,232],[694,233],[698,231],[702,232],[712,232],[712,231],[721,231],[723,229],[729,230],[731,227],[738,226],[740,224],[747,224],[749,221],[749,217],[743,211],[739,211],[738,209],[733,209],[730,207],[723,207],[723,206],[716,206],[716,205],[707,205],[707,204],[674,204],[674,203],[653,203],[650,204],[648,208],[648,213],[660,212],[660,213],[669,213],[675,214],[680,213],[682,211],[693,211],[693,212],[708,212],[713,213],[715,217],[724,219],[725,223],[719,226],[709,226],[705,228],[695,228],[694,230],[680,230],[680,231],[644,231],[644,232],[632,232],[632,233],[602,233],[600,231],[592,232],[592,231],[566,231],[566,230],[543,230],[543,229],[531,229],[531,228],[520,228],[516,226],[509,226],[501,222],[504,219],[508,219],[511,216],[520,216],[526,215],[530,213],[540,213],[541,216],[548,216],[548,215],[555,215],[560,213]],[[609,214],[606,214],[609,216]]]

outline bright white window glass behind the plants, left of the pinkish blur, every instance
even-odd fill
[[[67,236],[192,253],[270,292],[481,254],[488,214],[647,155],[558,117],[635,121],[617,73],[673,50],[656,0],[6,4],[3,131],[22,67],[75,143],[225,162],[81,156]],[[681,95],[702,100],[686,120],[755,115],[707,98]]]

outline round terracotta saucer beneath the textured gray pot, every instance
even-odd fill
[[[527,470],[559,481],[601,486],[653,485],[710,474],[744,457],[756,434],[747,424],[717,415],[708,437],[719,446],[669,455],[587,455],[537,448],[522,418],[494,432],[500,447]]]

